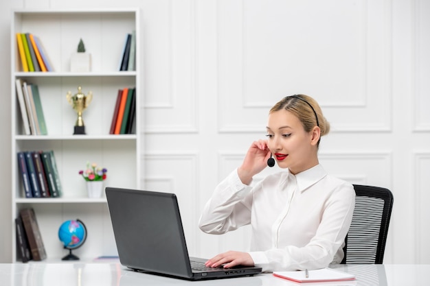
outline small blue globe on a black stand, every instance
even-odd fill
[[[58,229],[58,238],[63,242],[64,248],[69,250],[69,254],[63,257],[62,260],[78,260],[79,257],[72,254],[71,250],[79,248],[85,242],[87,228],[80,219],[67,220]]]

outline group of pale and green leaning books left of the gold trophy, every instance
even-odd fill
[[[47,135],[38,86],[36,84],[27,84],[20,78],[16,79],[15,83],[16,97],[18,97],[25,135]]]

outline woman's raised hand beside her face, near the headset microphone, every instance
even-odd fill
[[[270,158],[270,154],[271,152],[269,147],[267,147],[266,140],[253,141],[243,159],[242,165],[238,168],[238,176],[242,183],[249,184],[254,175],[267,167],[267,160]]]

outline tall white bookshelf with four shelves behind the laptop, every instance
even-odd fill
[[[135,69],[120,71],[124,38],[135,31]],[[53,71],[23,71],[16,33],[32,33],[41,40]],[[11,25],[12,102],[12,261],[19,261],[14,219],[21,208],[36,213],[48,261],[61,261],[68,250],[58,239],[58,228],[68,219],[80,219],[87,226],[87,241],[73,250],[78,257],[92,260],[116,254],[105,195],[88,198],[86,184],[78,171],[87,161],[108,169],[104,187],[139,188],[139,126],[142,98],[139,67],[140,35],[138,9],[96,10],[14,10]],[[91,71],[71,72],[71,53],[80,38],[91,53]],[[27,135],[16,97],[17,79],[37,84],[43,106],[47,135]],[[76,111],[67,102],[67,92],[93,93],[83,112],[85,135],[73,135]],[[136,88],[133,134],[109,134],[117,92]],[[25,198],[16,153],[53,150],[63,195],[60,198]]]

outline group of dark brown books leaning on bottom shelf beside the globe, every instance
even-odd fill
[[[15,219],[16,249],[21,261],[41,261],[46,258],[41,231],[33,208],[23,208]]]

